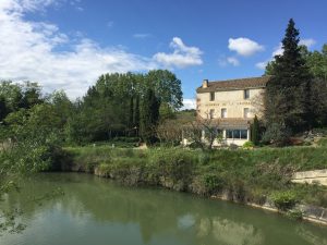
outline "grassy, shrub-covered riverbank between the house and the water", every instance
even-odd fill
[[[65,148],[53,170],[93,173],[131,186],[162,186],[278,209],[293,219],[327,207],[327,189],[291,182],[296,171],[326,169],[325,147],[203,152],[182,148]],[[318,216],[318,215],[317,215]],[[316,217],[317,217],[316,216]],[[326,222],[324,216],[316,220]]]

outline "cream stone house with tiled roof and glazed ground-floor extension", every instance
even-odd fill
[[[269,78],[204,79],[196,89],[197,120],[209,121],[221,131],[225,144],[242,146],[251,140],[250,125],[254,117],[262,117],[263,91]]]

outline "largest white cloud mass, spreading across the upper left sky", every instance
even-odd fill
[[[75,98],[84,95],[102,73],[158,68],[152,58],[130,53],[121,47],[102,48],[85,37],[71,38],[53,24],[24,20],[25,13],[53,2],[0,1],[0,79],[35,81],[47,91],[64,89]]]

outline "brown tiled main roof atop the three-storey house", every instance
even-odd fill
[[[196,89],[196,93],[262,88],[262,87],[266,87],[266,84],[270,78],[271,76],[259,76],[259,77],[208,82],[208,87],[206,88],[198,87]]]

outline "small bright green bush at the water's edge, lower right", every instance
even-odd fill
[[[290,210],[299,203],[295,193],[291,191],[275,192],[270,198],[276,208],[281,211]]]

